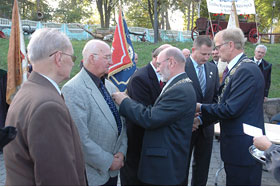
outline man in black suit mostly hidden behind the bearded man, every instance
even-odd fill
[[[127,85],[128,96],[145,106],[153,105],[161,92],[160,75],[156,72],[158,54],[165,48],[170,47],[164,44],[155,49],[152,53],[152,61],[143,68],[136,71],[130,78]],[[124,167],[121,168],[122,186],[141,186],[143,183],[137,177],[138,164],[141,156],[144,128],[135,125],[126,119],[128,148]]]

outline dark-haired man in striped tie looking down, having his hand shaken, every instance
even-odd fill
[[[216,103],[218,100],[218,68],[215,64],[207,62],[212,52],[212,46],[213,43],[208,36],[198,36],[194,40],[192,54],[186,60],[186,73],[193,82],[196,100],[199,103]],[[198,118],[201,121],[201,117]],[[192,186],[206,186],[212,153],[213,136],[214,125],[205,128],[200,125],[200,127],[192,133],[190,155],[188,159],[189,170],[193,152]],[[188,181],[186,181],[186,185],[187,183]]]

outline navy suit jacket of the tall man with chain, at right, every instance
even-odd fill
[[[243,55],[233,68],[244,61],[250,60]],[[224,81],[220,87],[222,90],[226,86],[220,103],[203,104],[201,111],[204,118],[220,120],[222,160],[228,164],[253,165],[256,161],[248,151],[253,137],[244,134],[242,124],[264,131],[264,79],[253,62],[244,62],[233,71],[227,74],[229,82]]]

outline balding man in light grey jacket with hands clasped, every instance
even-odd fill
[[[83,49],[83,68],[62,88],[78,127],[90,186],[117,185],[127,150],[126,127],[111,94],[117,88],[107,79],[111,50],[100,40]]]

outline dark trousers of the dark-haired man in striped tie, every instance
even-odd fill
[[[187,178],[185,185],[188,185],[188,176],[190,162],[193,152],[193,162],[192,162],[192,186],[206,186],[208,179],[208,171],[212,154],[213,147],[213,136],[205,137],[203,135],[203,129],[192,133],[191,144],[190,144],[190,154],[188,158],[187,167]]]

